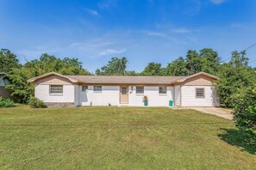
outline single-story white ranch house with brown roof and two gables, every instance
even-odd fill
[[[47,73],[28,80],[48,106],[219,106],[216,76],[67,76]],[[171,102],[172,102],[171,101]]]

